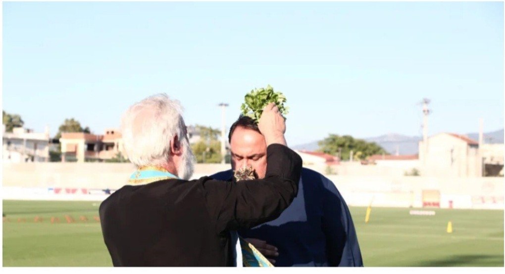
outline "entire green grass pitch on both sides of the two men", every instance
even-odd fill
[[[112,266],[100,225],[93,220],[98,205],[3,201],[9,219],[3,223],[3,265]],[[503,267],[503,210],[434,209],[435,216],[412,216],[409,210],[374,207],[365,224],[366,208],[350,208],[365,266]],[[75,223],[68,224],[65,215]],[[42,223],[35,223],[35,216]],[[61,223],[51,224],[52,216]],[[446,232],[449,221],[451,234]]]

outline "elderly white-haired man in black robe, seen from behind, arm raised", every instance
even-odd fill
[[[166,94],[147,97],[123,115],[128,184],[100,204],[100,222],[114,266],[232,266],[229,231],[275,220],[298,191],[301,158],[286,146],[277,106],[258,127],[267,143],[261,180],[188,181],[194,156],[182,107]]]

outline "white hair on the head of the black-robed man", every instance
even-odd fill
[[[166,166],[171,157],[170,140],[175,135],[183,149],[191,153],[189,143],[184,141],[186,126],[182,111],[180,102],[164,93],[149,96],[128,108],[121,118],[121,133],[128,159],[135,166]]]

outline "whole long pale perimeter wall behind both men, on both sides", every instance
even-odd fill
[[[345,168],[345,165],[333,166],[337,169],[342,167]],[[229,168],[229,165],[199,164],[195,166],[193,178]],[[324,174],[325,166],[308,168]],[[410,177],[403,176],[402,171],[394,174],[387,167],[351,165],[347,168],[354,168],[357,173],[342,175],[343,170],[340,169],[338,175],[327,177],[349,205],[367,206],[372,203],[374,206],[422,207],[422,191],[439,190],[441,207],[449,207],[452,201],[455,208],[503,209],[503,178]],[[79,191],[76,194],[54,194],[48,189],[114,190],[126,184],[134,171],[131,163],[4,163],[3,198],[105,199],[107,195],[89,196]]]

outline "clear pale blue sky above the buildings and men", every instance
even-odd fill
[[[245,93],[287,97],[289,145],[503,128],[503,3],[3,3],[3,109],[94,133],[166,92],[229,128]]]

